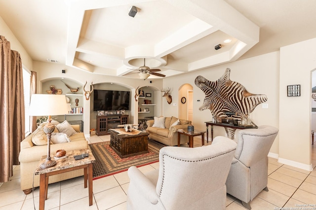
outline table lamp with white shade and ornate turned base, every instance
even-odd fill
[[[68,113],[65,95],[54,94],[33,94],[30,103],[30,116],[48,116],[48,123],[43,131],[47,136],[47,157],[40,165],[41,169],[50,168],[56,165],[56,161],[50,158],[50,137],[55,130],[55,125],[51,123],[52,115],[64,115]]]

